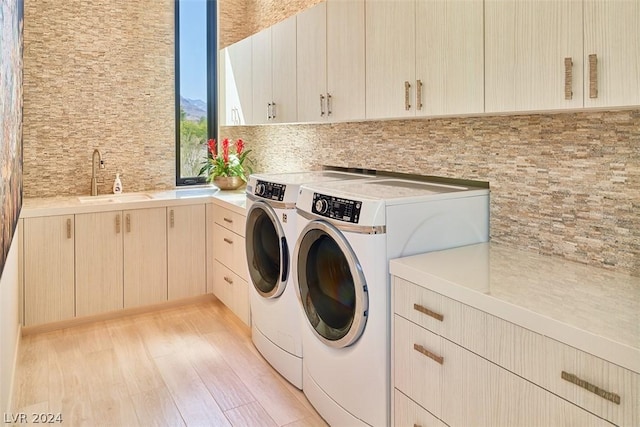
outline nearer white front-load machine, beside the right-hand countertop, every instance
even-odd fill
[[[394,178],[305,184],[297,211],[303,391],[330,425],[390,425],[389,260],[488,241],[489,190]]]

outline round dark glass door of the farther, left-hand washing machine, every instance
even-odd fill
[[[287,285],[289,250],[278,216],[269,204],[257,201],[247,212],[247,264],[253,287],[265,298],[277,298]]]

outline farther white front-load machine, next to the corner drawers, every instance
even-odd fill
[[[296,242],[296,200],[309,182],[371,178],[339,171],[253,174],[247,183],[246,253],[251,336],[264,358],[302,388],[302,313],[290,285]]]

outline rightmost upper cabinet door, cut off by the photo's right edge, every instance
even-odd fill
[[[584,2],[585,107],[640,104],[640,2]],[[597,92],[590,91],[589,55],[597,55]]]

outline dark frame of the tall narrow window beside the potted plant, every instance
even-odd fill
[[[174,0],[175,28],[175,124],[176,186],[204,184],[204,176],[182,177],[180,169],[180,1]],[[207,2],[207,139],[218,140],[218,2]]]

